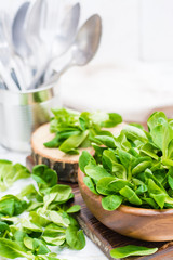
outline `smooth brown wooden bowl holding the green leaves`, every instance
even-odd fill
[[[173,209],[143,209],[121,205],[114,211],[102,207],[102,196],[92,193],[83,182],[83,172],[78,171],[81,195],[93,216],[104,225],[121,235],[148,240],[173,239]]]

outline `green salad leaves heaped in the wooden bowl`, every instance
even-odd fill
[[[96,135],[95,158],[83,152],[79,159],[84,183],[103,195],[102,205],[115,210],[121,204],[151,209],[173,208],[173,119],[154,113],[148,132],[128,125],[115,138]]]

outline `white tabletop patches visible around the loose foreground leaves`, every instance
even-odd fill
[[[25,159],[28,154],[29,153],[17,153],[17,152],[8,151],[2,146],[0,146],[0,159],[8,159],[8,160],[12,160],[13,162],[21,162],[25,165]],[[17,190],[17,193],[18,193],[18,190]],[[65,248],[62,251],[59,251],[59,255],[57,257],[61,260],[81,260],[81,259],[82,260],[107,260],[107,257],[105,257],[105,255],[98,249],[98,247],[96,247],[94,243],[90,240],[88,237],[85,238],[86,238],[86,245],[82,250],[76,251],[76,250],[69,250]]]

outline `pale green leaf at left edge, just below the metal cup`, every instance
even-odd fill
[[[0,192],[4,192],[15,181],[28,177],[30,177],[30,172],[23,165],[13,165],[10,160],[0,160]]]

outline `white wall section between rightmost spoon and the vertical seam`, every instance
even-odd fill
[[[98,13],[103,18],[97,62],[138,58],[138,0],[81,0],[82,20]]]

